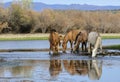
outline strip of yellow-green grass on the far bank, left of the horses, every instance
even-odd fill
[[[1,34],[1,41],[10,40],[47,40],[49,34]]]

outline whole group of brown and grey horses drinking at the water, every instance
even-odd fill
[[[98,48],[102,51],[101,36],[97,32],[88,33],[86,30],[70,30],[65,36],[63,36],[56,32],[56,30],[52,29],[49,35],[49,54],[51,54],[51,51],[53,54],[58,53],[61,44],[63,53],[66,53],[68,42],[70,42],[71,53],[79,52],[80,43],[82,44],[82,51],[88,51],[92,54],[92,57],[96,56]]]

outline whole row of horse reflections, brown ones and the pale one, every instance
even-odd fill
[[[62,72],[62,60],[50,60],[50,75],[57,76]],[[98,60],[63,60],[63,66],[70,75],[86,76],[99,80],[102,75],[102,61]]]

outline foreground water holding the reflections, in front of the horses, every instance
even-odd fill
[[[64,59],[44,60],[4,58],[0,62],[0,82],[119,82],[119,58],[70,55]]]

